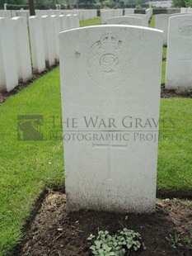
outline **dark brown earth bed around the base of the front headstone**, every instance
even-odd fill
[[[138,231],[143,248],[129,255],[190,256],[191,249],[176,244],[174,249],[166,240],[169,235],[183,239],[192,230],[192,204],[190,201],[157,200],[156,212],[151,215],[120,215],[107,212],[66,212],[65,195],[49,192],[35,219],[26,227],[26,238],[14,255],[33,256],[87,256],[91,255],[87,237],[98,230],[116,233],[123,227]],[[181,241],[181,240],[180,240]],[[183,243],[182,243],[183,244]]]

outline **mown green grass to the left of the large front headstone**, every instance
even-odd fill
[[[17,140],[18,115],[44,116],[44,141]],[[59,68],[31,83],[0,107],[0,255],[11,255],[44,187],[64,187],[63,141],[50,140],[61,116]]]

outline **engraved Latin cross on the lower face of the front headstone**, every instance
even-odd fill
[[[111,140],[107,144],[92,144],[93,149],[107,149],[107,173],[108,178],[111,178],[111,149],[127,149],[128,145],[114,145],[111,144]]]

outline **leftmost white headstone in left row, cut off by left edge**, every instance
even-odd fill
[[[10,92],[18,85],[12,21],[0,18],[0,91]]]

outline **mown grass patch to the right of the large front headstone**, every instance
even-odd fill
[[[192,100],[162,99],[161,119],[157,187],[187,192],[192,189]]]

